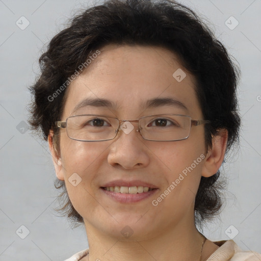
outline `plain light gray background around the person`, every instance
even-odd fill
[[[241,148],[224,165],[229,179],[225,209],[204,233],[214,241],[233,237],[242,249],[261,252],[261,1],[180,2],[207,19],[242,70]],[[85,228],[72,230],[53,211],[56,176],[47,143],[33,137],[22,121],[27,120],[27,87],[39,72],[41,48],[63,29],[76,9],[89,5],[92,1],[0,0],[0,260],[58,261],[88,247]],[[30,21],[24,30],[16,25],[21,16]],[[225,24],[230,16],[239,21],[233,30]],[[233,27],[236,20],[230,20]],[[25,239],[16,233],[21,225],[30,230]],[[234,227],[227,230],[230,225]],[[236,229],[239,233],[234,237]],[[19,236],[25,233],[18,231]]]

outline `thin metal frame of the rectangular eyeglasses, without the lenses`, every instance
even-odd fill
[[[190,132],[188,134],[187,137],[185,138],[182,138],[182,139],[178,139],[178,140],[164,140],[164,141],[180,141],[180,140],[186,140],[190,137],[190,133],[191,133],[191,128],[192,126],[199,126],[199,125],[202,125],[202,124],[205,124],[205,123],[211,123],[210,120],[192,120],[192,117],[191,116],[188,116],[188,115],[183,115],[183,114],[156,114],[156,115],[149,115],[149,116],[143,116],[139,119],[136,119],[136,120],[119,120],[118,118],[114,118],[114,117],[110,117],[110,116],[105,116],[105,115],[98,115],[98,114],[82,114],[82,115],[73,115],[73,116],[70,116],[68,117],[65,121],[56,121],[55,122],[55,125],[56,127],[58,128],[63,128],[65,129],[67,127],[67,120],[69,118],[72,118],[72,117],[77,117],[77,116],[98,116],[98,117],[106,117],[106,118],[112,118],[112,119],[116,119],[118,120],[119,124],[118,124],[118,128],[115,129],[115,136],[114,138],[112,139],[107,139],[107,140],[98,140],[98,141],[110,141],[110,140],[113,140],[116,138],[116,136],[118,135],[118,132],[120,130],[120,127],[121,127],[121,123],[122,122],[137,122],[138,123],[138,129],[136,129],[136,132],[140,132],[141,134],[141,127],[140,127],[140,120],[143,119],[143,118],[146,118],[146,117],[152,117],[152,116],[167,116],[167,115],[175,115],[175,116],[185,116],[185,117],[188,117],[190,118],[191,120],[191,126],[190,126]],[[68,132],[67,132],[67,128],[66,128],[66,133],[67,133],[67,136],[72,139],[72,140],[75,140],[75,141],[82,141],[82,142],[96,142],[96,141],[85,141],[85,140],[78,140],[78,139],[74,139],[74,138],[71,138],[69,135],[68,135]],[[143,138],[142,134],[141,134],[141,137]],[[148,139],[145,139],[143,138],[144,140],[148,140]],[[148,141],[158,141],[158,140],[148,140]]]

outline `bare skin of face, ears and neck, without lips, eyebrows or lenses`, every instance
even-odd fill
[[[128,120],[159,113],[203,119],[194,90],[195,79],[171,51],[112,44],[100,51],[98,58],[68,87],[61,120],[97,110]],[[178,68],[187,74],[180,83],[172,76]],[[140,108],[141,101],[166,96],[183,102],[188,111],[170,106]],[[107,98],[117,102],[119,108],[86,107],[73,112],[77,103],[87,97]],[[135,129],[138,126],[133,125]],[[57,177],[65,180],[70,200],[85,222],[90,254],[82,260],[199,260],[204,238],[194,223],[195,196],[201,176],[210,177],[220,168],[227,142],[227,132],[223,131],[213,139],[213,148],[205,152],[203,126],[192,127],[188,139],[174,142],[147,141],[136,131],[120,131],[110,141],[81,142],[69,139],[66,130],[61,129],[59,154],[50,132],[49,147]],[[153,206],[151,201],[201,154],[205,159],[158,206]],[[82,178],[76,187],[68,181],[75,172]],[[140,202],[119,203],[99,189],[115,179],[140,179],[159,190]],[[133,230],[129,238],[121,234],[126,225]],[[217,248],[207,240],[201,260]]]

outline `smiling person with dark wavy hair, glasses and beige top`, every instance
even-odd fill
[[[193,11],[108,1],[74,17],[40,65],[30,124],[89,243],[67,260],[261,260],[197,229],[221,210],[240,118],[239,70]]]

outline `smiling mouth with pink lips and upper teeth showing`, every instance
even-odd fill
[[[159,188],[141,181],[118,180],[100,187],[103,195],[121,203],[135,203],[151,197]]]

